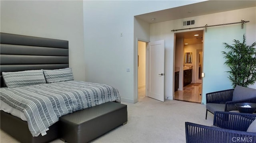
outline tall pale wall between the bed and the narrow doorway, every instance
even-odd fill
[[[149,41],[150,30],[134,16],[196,2],[84,1],[86,80],[110,84],[122,101],[137,102],[137,38]]]

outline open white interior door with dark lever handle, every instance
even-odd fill
[[[164,40],[148,43],[148,97],[164,102]]]

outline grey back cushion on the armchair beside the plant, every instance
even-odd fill
[[[233,92],[232,101],[256,97],[256,89],[237,85]]]

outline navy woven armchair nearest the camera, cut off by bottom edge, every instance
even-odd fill
[[[211,127],[185,122],[186,143],[256,143],[255,119],[256,114],[216,111]]]

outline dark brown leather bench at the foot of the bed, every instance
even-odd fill
[[[127,105],[107,102],[60,117],[62,141],[87,143],[127,123]]]

